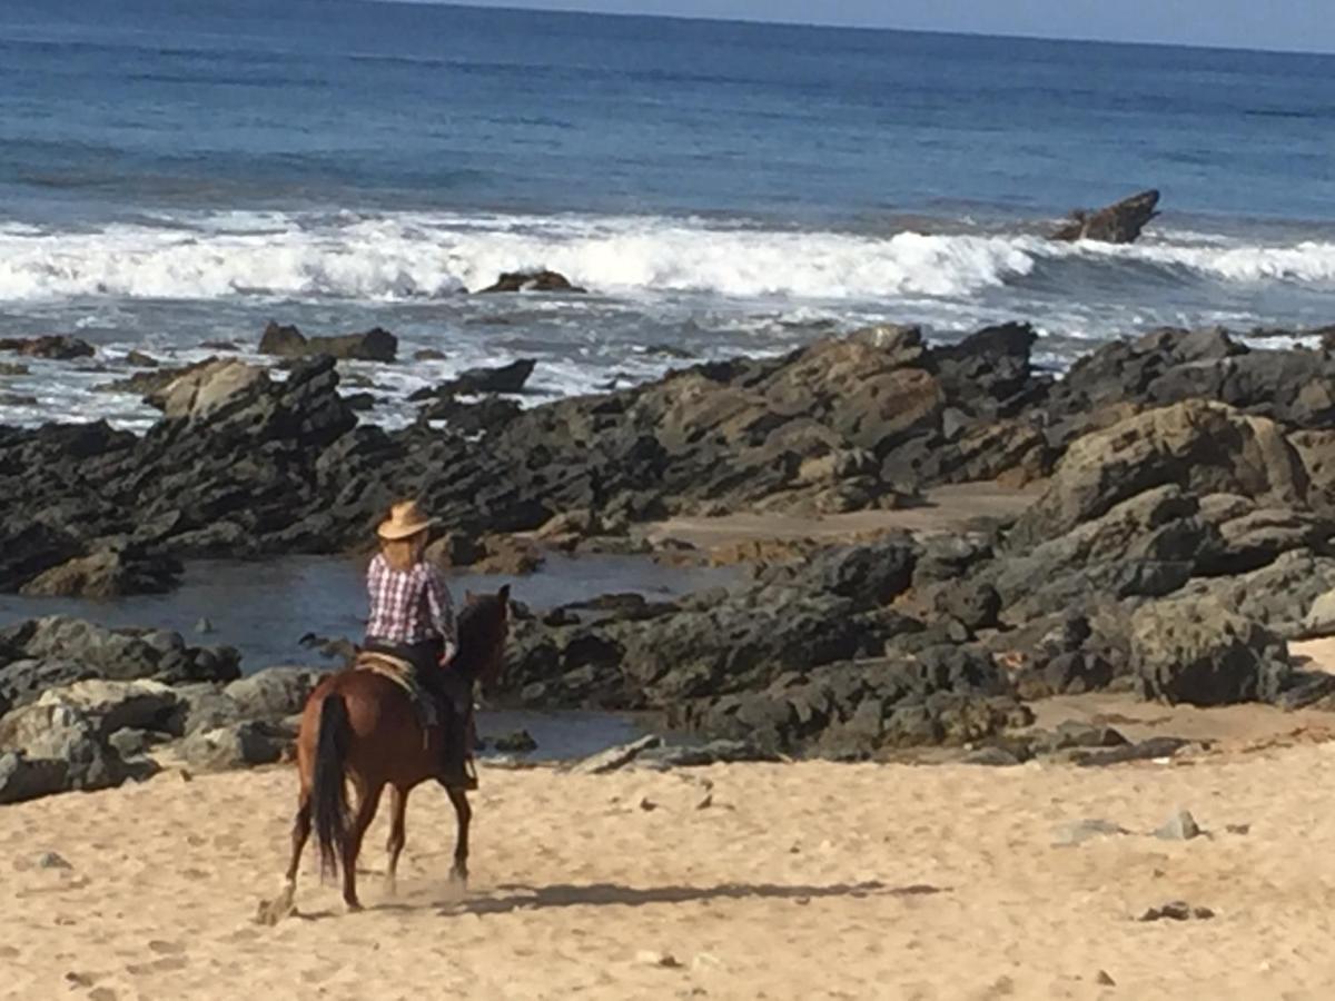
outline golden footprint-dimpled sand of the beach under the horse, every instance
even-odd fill
[[[0,810],[3,990],[111,998],[1331,997],[1335,743],[1173,765],[487,770],[474,881],[413,801],[399,894],[314,853],[278,889],[288,767]],[[1179,806],[1206,836],[1151,831]],[[1076,845],[1099,818],[1129,833]],[[372,848],[374,846],[374,848]],[[60,860],[43,858],[55,852]],[[1140,921],[1171,901],[1208,920]],[[1116,986],[1111,986],[1115,984]]]

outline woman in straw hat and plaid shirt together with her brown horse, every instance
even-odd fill
[[[368,633],[395,655],[411,658],[421,673],[450,694],[443,726],[425,726],[410,694],[392,678],[359,665],[332,674],[311,693],[296,737],[300,779],[292,854],[283,892],[260,908],[262,921],[291,913],[302,850],[312,829],[326,872],[343,870],[343,900],[348,909],[356,896],[356,857],[386,787],[390,790],[390,841],[386,882],[392,892],[403,852],[409,794],[422,782],[445,786],[458,817],[458,837],[450,877],[465,884],[469,876],[467,785],[461,782],[465,725],[470,719],[473,686],[493,685],[505,658],[510,626],[510,586],[495,594],[469,595],[458,618],[455,643],[449,591],[422,561],[430,521],[417,505],[395,505],[380,526],[384,551],[368,577],[371,625]],[[407,554],[390,543],[405,542]],[[394,561],[398,561],[396,563]],[[406,569],[402,569],[406,567]],[[442,669],[442,659],[449,667]],[[443,683],[442,683],[443,681]],[[445,762],[450,763],[447,769]],[[467,779],[467,775],[463,775]],[[356,793],[348,802],[348,785]]]

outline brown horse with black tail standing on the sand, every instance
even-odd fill
[[[501,669],[510,623],[510,586],[497,594],[469,595],[459,613],[459,653],[450,670],[470,682],[490,685]],[[276,917],[292,908],[302,850],[315,827],[320,868],[343,869],[343,901],[360,910],[356,898],[356,857],[362,837],[375,818],[384,787],[390,787],[390,841],[386,882],[392,893],[399,853],[403,850],[403,814],[415,786],[441,778],[443,734],[439,726],[422,731],[409,694],[395,682],[367,670],[350,669],[324,679],[311,693],[296,738],[300,774],[296,819],[292,823],[292,861],[278,901],[262,914]],[[356,809],[347,798],[347,782],[356,791]],[[469,821],[473,810],[462,789],[446,787],[459,821],[451,881],[469,878]]]

